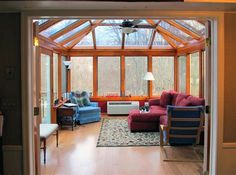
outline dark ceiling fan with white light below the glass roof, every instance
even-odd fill
[[[142,20],[140,20],[140,19],[135,19],[135,20],[133,20],[133,21],[130,21],[130,20],[128,20],[128,19],[125,19],[125,20],[121,23],[121,25],[120,25],[121,30],[122,30],[122,33],[128,35],[128,34],[130,34],[130,33],[137,32],[137,29],[136,29],[136,28],[138,28],[137,25],[138,25],[140,22],[142,22]]]

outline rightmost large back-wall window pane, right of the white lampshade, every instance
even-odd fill
[[[164,90],[174,89],[174,57],[153,57],[153,95],[161,95]]]

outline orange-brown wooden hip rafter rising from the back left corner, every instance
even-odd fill
[[[93,31],[103,20],[96,20],[92,26],[89,26],[80,32],[76,33],[76,38],[67,46],[69,49],[72,49],[78,42],[81,41],[83,37],[88,35],[91,31]]]

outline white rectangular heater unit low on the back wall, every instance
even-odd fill
[[[108,101],[107,114],[108,115],[121,115],[129,114],[131,109],[139,109],[138,101]]]

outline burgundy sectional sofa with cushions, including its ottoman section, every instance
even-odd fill
[[[128,116],[128,125],[133,131],[159,131],[159,125],[167,125],[166,107],[172,106],[204,106],[203,98],[194,97],[175,91],[163,91],[160,99],[150,99],[149,113],[132,110]]]

